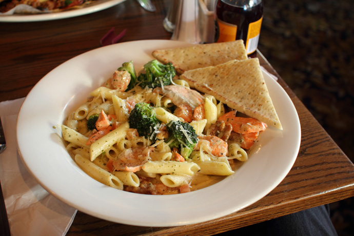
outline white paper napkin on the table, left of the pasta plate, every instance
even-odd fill
[[[0,180],[11,235],[65,235],[76,209],[42,188],[23,164],[16,141],[16,120],[24,99],[0,103],[6,149],[0,154]]]

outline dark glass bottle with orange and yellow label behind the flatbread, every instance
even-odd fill
[[[243,40],[247,55],[255,56],[263,19],[262,0],[218,0],[215,42]]]

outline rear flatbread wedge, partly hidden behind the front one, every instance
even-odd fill
[[[247,59],[243,40],[161,49],[153,51],[152,55],[165,64],[172,63],[180,74],[187,70],[216,66],[231,60]]]

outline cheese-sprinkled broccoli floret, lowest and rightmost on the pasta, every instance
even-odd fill
[[[198,143],[198,135],[195,133],[193,126],[181,121],[170,121],[166,126],[168,139],[165,142],[171,142],[169,144],[170,148],[178,148],[181,155],[187,159],[195,144]]]

